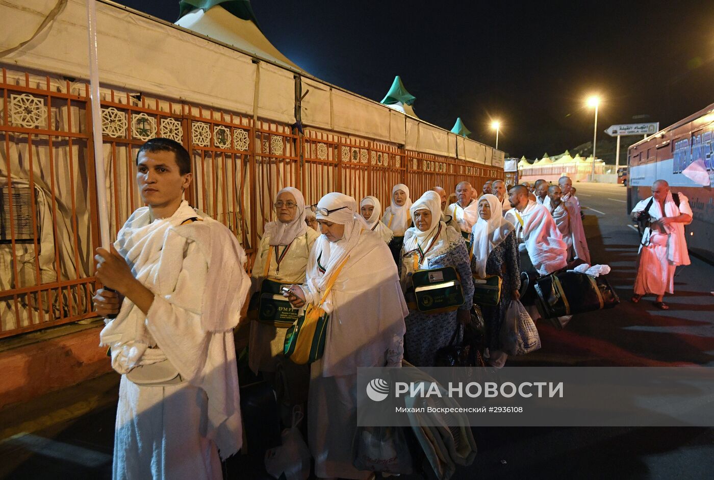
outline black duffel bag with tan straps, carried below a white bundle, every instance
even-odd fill
[[[611,309],[620,303],[604,275],[595,278],[578,271],[563,271],[542,276],[533,286],[544,319]]]

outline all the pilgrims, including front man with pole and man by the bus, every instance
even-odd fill
[[[136,165],[146,206],[95,256],[104,285],[93,297],[106,319],[100,341],[121,374],[115,479],[221,478],[221,459],[243,444],[234,332],[248,326],[248,366],[268,383],[291,363],[289,329],[251,315],[248,299],[269,281],[283,285],[276,296],[290,302],[288,309],[319,306],[328,316],[321,355],[300,365],[314,473],[366,479],[371,472],[354,466],[358,368],[434,366],[440,349],[461,341],[475,285],[489,276],[500,276],[503,286],[498,301],[481,306],[483,358],[501,367],[508,355],[499,333],[508,305],[521,297],[521,272],[546,275],[590,263],[580,205],[565,176],[553,186],[538,181],[533,191],[487,181],[480,196],[462,181],[453,201],[438,186],[413,201],[408,186],[397,184],[383,213],[376,196],[358,203],[332,192],[307,206],[288,186],[273,201],[275,220],[266,224],[250,269],[236,236],[183,199],[192,173],[181,144],[151,139]],[[660,224],[690,221],[674,216],[688,208],[686,199],[675,206],[660,187],[654,204],[640,202],[639,210],[655,211]],[[666,263],[671,249],[656,234],[651,244],[643,247],[652,250],[647,264],[663,255]],[[463,303],[418,308],[416,278],[439,269],[456,272]],[[665,268],[665,276],[672,273]],[[655,284],[665,288],[665,281],[643,277],[636,293]]]

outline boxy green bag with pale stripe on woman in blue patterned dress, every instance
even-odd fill
[[[465,299],[456,269],[417,270],[411,277],[418,311],[435,314],[458,309]]]

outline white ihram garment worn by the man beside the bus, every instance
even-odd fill
[[[652,197],[644,199],[635,205],[633,214],[643,211]],[[687,214],[692,216],[692,209],[689,200],[683,194],[679,194],[679,207],[674,203],[672,194],[665,199],[665,216],[678,216]],[[653,201],[650,206],[650,217],[652,221],[663,217],[662,208],[658,201]],[[672,223],[665,226],[664,231],[651,231],[645,229],[642,242],[648,246],[640,244],[640,257],[638,260],[637,277],[635,278],[635,294],[664,295],[674,293],[674,271],[678,265],[689,265],[689,251],[684,235],[684,225],[682,223]]]

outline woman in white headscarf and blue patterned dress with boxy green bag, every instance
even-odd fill
[[[434,366],[436,352],[461,342],[459,321],[470,318],[473,281],[468,251],[461,233],[441,221],[441,197],[427,191],[411,206],[415,226],[406,231],[401,251],[400,277],[403,290],[412,296],[412,275],[417,270],[452,266],[461,276],[466,301],[456,311],[429,314],[409,309],[404,337],[404,358],[416,366]]]

